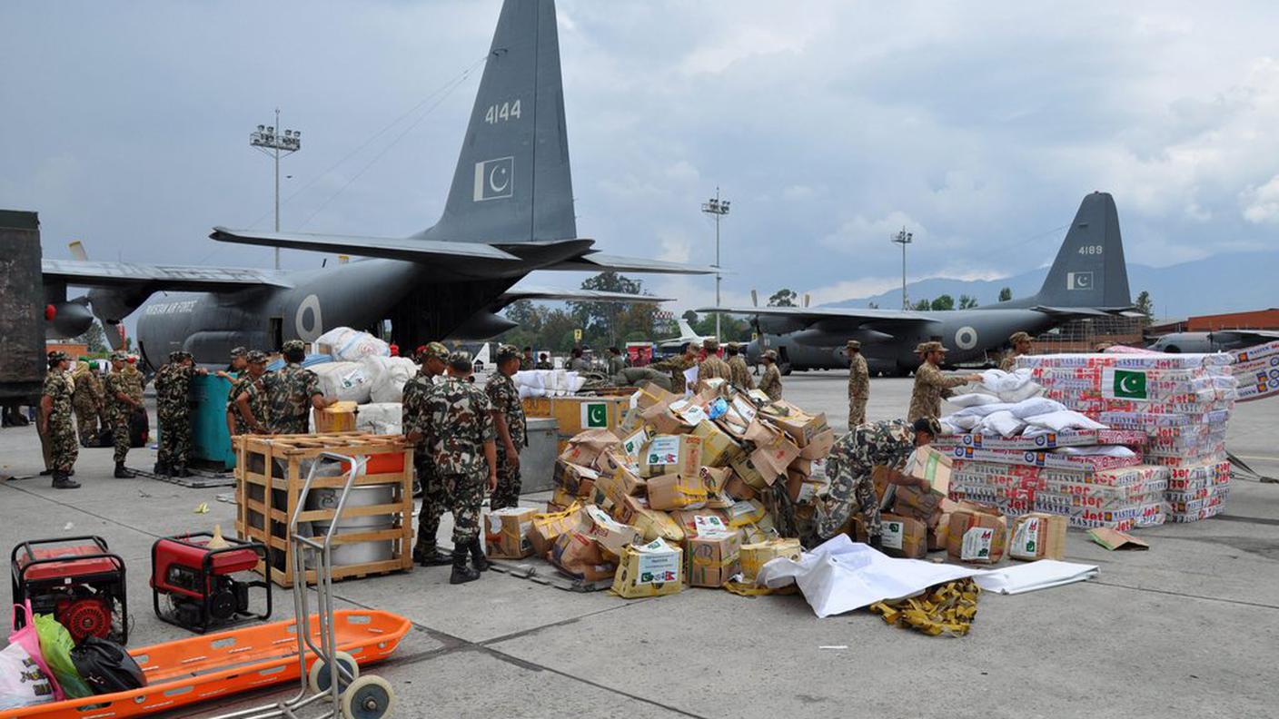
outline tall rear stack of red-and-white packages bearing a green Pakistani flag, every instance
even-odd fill
[[[1146,464],[1166,467],[1166,516],[1221,512],[1229,493],[1225,430],[1238,397],[1230,354],[1044,354],[1018,358],[1045,395],[1105,426],[1147,436]]]

